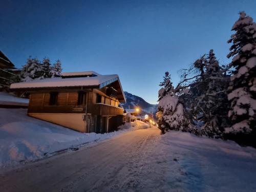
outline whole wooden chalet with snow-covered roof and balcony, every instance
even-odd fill
[[[125,96],[118,75],[94,71],[63,73],[61,77],[11,84],[29,92],[28,115],[80,132],[104,133],[122,124]]]

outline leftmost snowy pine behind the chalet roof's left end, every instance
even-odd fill
[[[38,71],[40,68],[39,60],[35,58],[31,58],[31,56],[27,59],[27,63],[23,66],[22,71],[20,72],[20,80],[21,81],[31,81],[32,79],[38,78]]]

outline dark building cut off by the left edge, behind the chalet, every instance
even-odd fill
[[[0,51],[0,91],[8,89],[10,84],[14,82],[13,79],[16,74],[12,72],[13,69],[15,69],[13,63]]]

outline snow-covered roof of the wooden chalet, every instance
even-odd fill
[[[97,76],[77,77],[81,75],[94,74]],[[32,81],[12,83],[11,89],[39,89],[39,88],[65,88],[65,87],[98,87],[99,89],[108,86],[112,82],[118,81],[120,90],[123,95],[123,101],[125,96],[122,90],[122,86],[118,75],[100,75],[94,71],[88,72],[72,72],[63,73],[63,75],[70,76],[69,78],[55,77],[45,79],[34,79]],[[72,77],[76,76],[76,77]]]

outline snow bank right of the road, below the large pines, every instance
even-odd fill
[[[256,190],[255,148],[176,131],[162,135],[157,148],[166,191]]]

